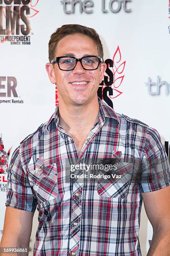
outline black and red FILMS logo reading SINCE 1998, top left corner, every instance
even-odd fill
[[[0,42],[10,41],[11,45],[30,45],[30,18],[38,10],[39,0],[0,0]]]

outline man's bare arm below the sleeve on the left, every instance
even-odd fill
[[[33,216],[34,212],[7,206],[0,247],[29,248]],[[1,254],[1,256],[6,255],[8,254]],[[17,255],[17,253],[13,255]],[[20,255],[26,256],[28,253]]]

